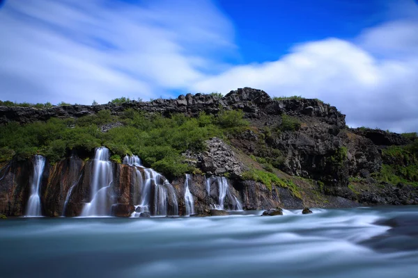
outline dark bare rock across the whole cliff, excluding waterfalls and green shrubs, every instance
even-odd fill
[[[237,201],[247,210],[304,207],[304,201],[295,197],[288,188],[272,186],[270,190],[262,183],[243,181],[242,173],[250,169],[237,155],[238,152],[246,156],[269,158],[269,163],[274,163],[274,167],[286,174],[315,180],[320,185],[320,194],[334,196],[339,204],[418,204],[417,188],[408,184],[389,183],[376,186],[378,181],[372,175],[380,171],[383,163],[389,163],[382,159],[382,148],[406,145],[410,140],[396,133],[375,129],[348,129],[345,115],[334,106],[316,99],[274,100],[262,90],[242,88],[224,97],[188,94],[180,95],[177,99],[130,101],[119,105],[73,105],[48,109],[1,106],[0,124],[12,121],[24,124],[51,117],[82,117],[102,110],[108,110],[112,115],[122,115],[127,108],[161,113],[167,117],[173,113],[193,117],[201,112],[216,114],[220,107],[244,111],[251,129],[230,136],[228,142],[233,147],[224,140],[212,138],[206,141],[206,152],[184,154],[188,163],[206,174],[192,175],[189,183],[198,215],[210,214],[211,205],[220,206],[215,176],[229,177],[229,194],[226,194],[222,203],[226,210],[235,209]],[[294,120],[297,125],[291,129],[284,128],[286,119]],[[105,124],[100,129],[107,132],[120,124]],[[80,215],[90,197],[92,167],[92,161],[83,161],[76,155],[54,165],[47,163],[40,192],[42,213],[48,216]],[[132,206],[138,204],[137,169],[116,163],[112,163],[111,167],[114,185],[107,196],[109,213],[130,215],[134,211]],[[0,170],[0,213],[24,214],[32,172],[31,161],[10,161],[3,165]],[[364,181],[364,188],[358,192],[351,190],[348,187],[350,177],[360,177]],[[184,178],[174,179],[171,184],[175,192],[167,194],[171,197],[175,194],[178,204],[169,202],[167,211],[184,215]],[[152,194],[156,194],[155,191]],[[169,199],[173,198],[169,196]],[[155,201],[150,204],[156,205]]]

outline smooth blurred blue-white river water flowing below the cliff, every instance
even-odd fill
[[[418,207],[0,220],[0,277],[418,277]]]

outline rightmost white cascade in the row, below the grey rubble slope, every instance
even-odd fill
[[[209,177],[206,179],[206,190],[210,195],[210,185],[216,183],[218,186],[218,204],[210,204],[210,208],[223,210],[225,198],[228,197],[229,208],[232,211],[242,211],[242,205],[238,198],[231,193],[226,177]]]

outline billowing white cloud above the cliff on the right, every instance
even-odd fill
[[[247,86],[272,96],[319,98],[346,113],[350,126],[417,131],[418,41],[410,38],[417,26],[384,24],[362,34],[356,40],[362,44],[336,38],[300,44],[279,60],[231,67],[193,89],[229,92]]]

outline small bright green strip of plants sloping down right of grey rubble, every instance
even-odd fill
[[[299,188],[291,180],[284,180],[277,177],[276,174],[265,172],[263,170],[251,169],[247,172],[242,173],[242,179],[251,181],[259,181],[267,186],[268,189],[272,190],[272,186],[280,186],[291,190],[295,197],[302,198]]]

